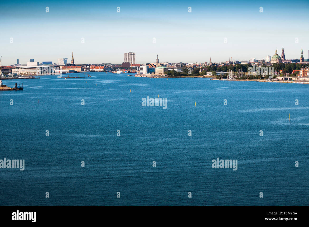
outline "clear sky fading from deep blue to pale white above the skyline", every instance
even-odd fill
[[[249,61],[276,48],[281,56],[283,46],[286,59],[300,58],[302,47],[308,58],[308,9],[305,0],[13,0],[0,7],[0,56],[2,65],[69,63],[72,52],[75,64],[121,64],[125,52],[137,64],[157,54],[160,62]]]

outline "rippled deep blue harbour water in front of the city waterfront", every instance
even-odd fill
[[[309,205],[307,84],[90,75],[2,81],[0,205]]]

